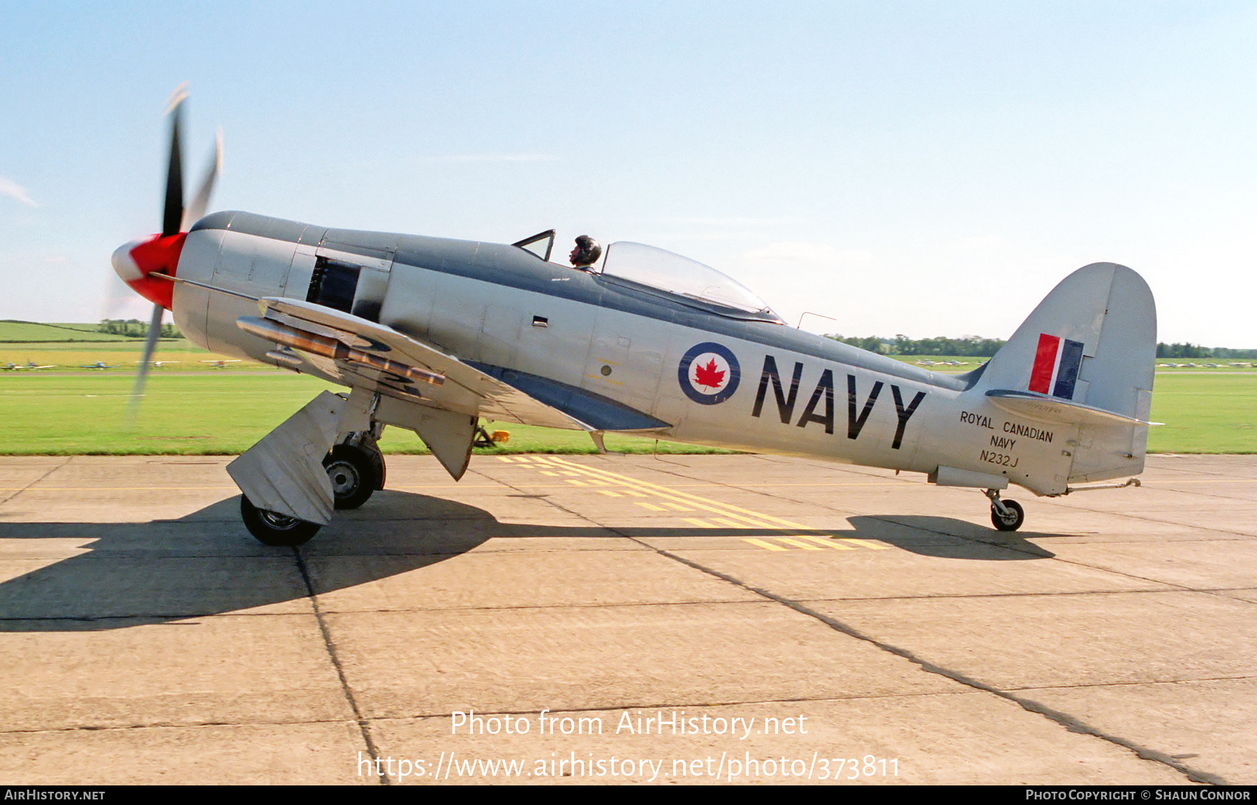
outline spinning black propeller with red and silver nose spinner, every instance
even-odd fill
[[[187,230],[205,215],[210,203],[210,193],[214,192],[214,181],[222,168],[222,132],[220,129],[201,186],[192,197],[192,202],[185,207],[182,147],[180,146],[178,129],[184,100],[187,98],[186,87],[187,84],[180,84],[171,94],[166,108],[170,117],[170,163],[166,171],[166,207],[162,212],[161,234],[119,246],[113,252],[112,259],[113,270],[122,278],[122,281],[153,303],[143,360],[140,362],[136,384],[131,389],[132,414],[143,396],[148,362],[152,359],[157,348],[157,338],[161,335],[161,319],[165,311],[170,310],[175,293],[175,284],[162,278],[175,276]]]

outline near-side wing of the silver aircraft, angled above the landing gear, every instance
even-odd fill
[[[652,431],[669,424],[548,378],[460,360],[431,344],[297,299],[258,300],[238,325],[283,344],[333,381],[473,417],[582,431]],[[297,354],[293,354],[297,353]],[[298,358],[299,355],[299,358]],[[272,353],[285,359],[285,352]]]

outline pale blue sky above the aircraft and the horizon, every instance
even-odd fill
[[[165,100],[212,208],[713,265],[848,335],[1007,338],[1071,270],[1257,347],[1257,4],[6,3],[0,318],[145,315]],[[191,181],[191,180],[190,180]]]

